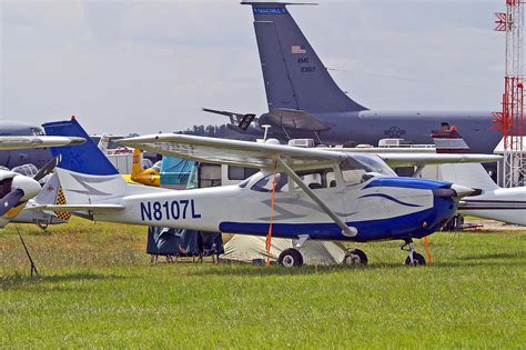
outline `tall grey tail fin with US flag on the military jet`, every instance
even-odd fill
[[[269,110],[362,111],[334,82],[285,3],[252,4]]]

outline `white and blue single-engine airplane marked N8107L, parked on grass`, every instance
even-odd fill
[[[75,120],[44,124],[48,134],[84,137]],[[282,144],[182,134],[124,139],[121,143],[162,154],[257,168],[236,186],[173,191],[127,183],[97,146],[53,149],[68,206],[40,210],[81,212],[97,221],[299,239],[403,240],[407,264],[425,263],[413,239],[453,217],[471,189],[449,182],[398,178],[381,158]],[[274,206],[274,214],[271,207]],[[301,264],[297,249],[289,266]],[[352,261],[366,261],[353,250]],[[291,262],[292,261],[292,262]]]

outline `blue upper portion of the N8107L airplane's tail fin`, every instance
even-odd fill
[[[44,127],[48,136],[81,137],[87,140],[80,146],[51,148],[53,157],[59,154],[62,157],[59,168],[92,176],[119,174],[115,167],[74,118],[67,121],[44,123],[42,127]]]

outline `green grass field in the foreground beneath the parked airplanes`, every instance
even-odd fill
[[[436,233],[367,268],[150,266],[145,229],[75,220],[0,233],[0,348],[525,348],[526,233]],[[421,252],[422,242],[417,243]]]

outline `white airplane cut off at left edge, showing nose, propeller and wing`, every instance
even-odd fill
[[[0,151],[74,146],[84,141],[82,138],[74,137],[4,136],[0,137]],[[0,228],[11,222],[22,211],[26,203],[40,193],[41,187],[38,180],[49,172],[50,167],[44,167],[34,178],[30,178],[13,171],[0,170]]]

